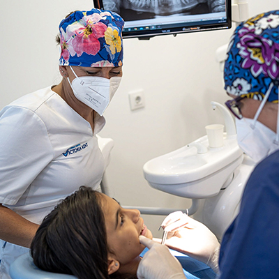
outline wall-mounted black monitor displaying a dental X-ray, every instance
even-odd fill
[[[112,10],[125,20],[123,38],[229,29],[231,0],[93,0],[94,7]]]

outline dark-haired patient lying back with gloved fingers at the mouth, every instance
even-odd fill
[[[137,278],[145,248],[140,234],[152,239],[140,211],[123,209],[115,199],[82,186],[44,218],[31,255],[40,269],[79,279]]]

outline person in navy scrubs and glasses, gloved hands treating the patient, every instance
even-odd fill
[[[239,146],[258,164],[246,183],[239,215],[223,236],[220,253],[212,232],[190,217],[190,229],[184,227],[166,244],[216,271],[219,268],[220,279],[279,278],[279,10],[252,17],[236,28],[224,79],[225,90],[234,98],[226,105],[236,116]],[[185,278],[165,248],[140,238],[151,249],[140,263],[138,278]]]

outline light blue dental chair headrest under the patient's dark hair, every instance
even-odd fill
[[[73,275],[52,273],[39,269],[34,263],[29,252],[21,255],[10,265],[12,279],[77,279]]]

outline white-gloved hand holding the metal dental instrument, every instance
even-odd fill
[[[179,227],[179,225],[183,227]],[[169,233],[165,245],[209,265],[218,273],[220,243],[204,224],[181,211],[170,213],[161,225]]]

